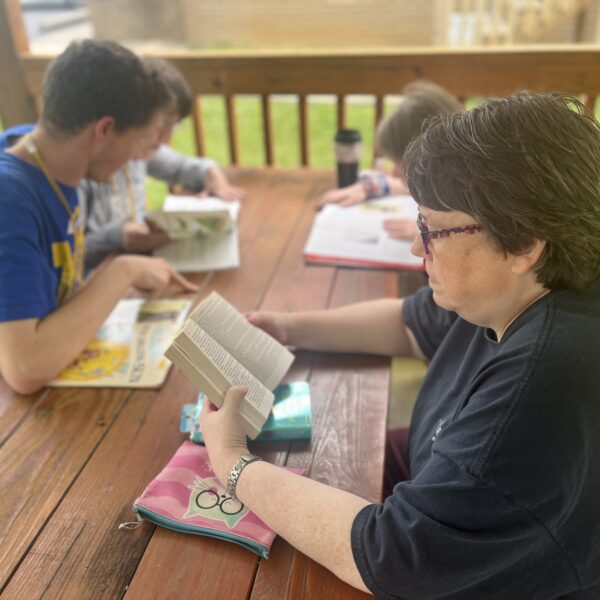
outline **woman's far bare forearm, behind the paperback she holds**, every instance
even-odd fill
[[[404,325],[402,300],[385,298],[329,310],[290,313],[288,343],[326,352],[420,356]]]

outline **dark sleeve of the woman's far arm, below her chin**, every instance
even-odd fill
[[[406,298],[402,310],[404,323],[415,335],[423,354],[431,360],[458,315],[440,308],[428,285]]]

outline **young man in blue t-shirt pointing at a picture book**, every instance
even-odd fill
[[[154,142],[172,97],[119,44],[72,43],[50,65],[33,131],[0,152],[0,374],[31,393],[70,364],[130,287],[193,290],[163,260],[123,255],[83,280],[76,186]]]

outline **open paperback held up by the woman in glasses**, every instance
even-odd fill
[[[248,388],[240,406],[244,431],[256,438],[273,406],[271,390],[294,355],[216,292],[191,312],[165,352],[216,406],[232,385]]]

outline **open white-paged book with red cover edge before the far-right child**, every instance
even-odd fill
[[[317,213],[304,248],[307,263],[347,267],[423,270],[411,241],[391,238],[383,221],[417,218],[410,196],[390,196],[355,206],[327,204]]]

